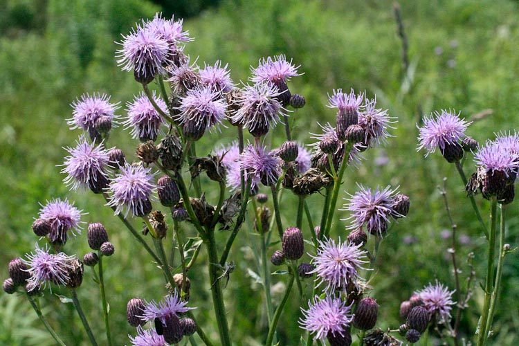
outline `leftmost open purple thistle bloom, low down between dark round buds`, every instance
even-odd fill
[[[65,253],[48,253],[49,248],[39,248],[36,246],[35,253],[26,254],[27,260],[24,262],[28,266],[30,278],[28,283],[32,284],[33,289],[40,286],[46,287],[48,282],[65,285],[69,280],[68,271],[74,268],[71,261],[75,256],[68,256]]]

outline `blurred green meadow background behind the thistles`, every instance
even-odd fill
[[[39,203],[68,197],[89,212],[84,221],[104,222],[116,246],[115,255],[105,261],[116,345],[129,343],[127,334],[135,334],[126,323],[127,300],[135,296],[161,299],[161,277],[148,255],[111,215],[102,197],[69,192],[62,183],[61,168],[57,167],[66,155],[62,147],[74,145],[80,134],[66,125],[72,111],[69,104],[75,98],[82,93],[108,93],[112,102],[120,102],[119,114],[125,115],[126,102],[140,91],[140,86],[131,73],[120,71],[116,65],[114,52],[118,45],[114,42],[120,42],[121,34],[129,33],[140,18],[152,18],[161,11],[165,17],[174,14],[175,18],[185,18],[184,28],[195,38],[186,46],[186,53],[192,58],[199,56],[197,63],[201,66],[216,60],[228,63],[235,82],[245,82],[250,66],[257,66],[258,60],[268,55],[285,54],[300,64],[299,71],[304,75],[293,78],[289,86],[293,93],[307,98],[307,106],[292,115],[294,136],[304,143],[312,143],[309,133],[320,132],[317,121],[334,122],[334,111],[326,107],[327,93],[354,88],[366,90],[370,97],[376,94],[379,107],[388,108],[398,119],[397,129],[391,131],[394,138],[381,148],[367,151],[360,168],[347,171],[344,190],[354,193],[357,182],[372,188],[400,185],[401,192],[411,199],[408,217],[399,221],[382,243],[372,280],[372,297],[381,306],[379,326],[401,325],[400,302],[435,278],[451,289],[454,286],[448,269],[449,241],[445,239],[450,225],[437,189],[446,177],[451,211],[463,244],[458,254],[462,277],[468,274],[467,254],[475,252],[478,283],[462,320],[462,333],[474,331],[482,306],[479,282],[484,282],[486,245],[455,167],[438,153],[424,158],[424,152],[416,152],[416,126],[421,116],[453,108],[464,118],[476,116],[468,135],[480,143],[493,139],[496,132],[517,129],[518,1],[413,0],[401,1],[400,6],[409,46],[407,71],[403,68],[402,39],[392,1],[0,0],[1,280],[8,276],[10,259],[35,247],[37,239],[30,226],[37,217]],[[211,134],[202,140],[198,153],[209,152],[215,143],[230,143],[234,136],[231,130],[224,129],[222,135]],[[269,136],[273,145],[280,144],[282,127]],[[124,149],[131,159],[137,143],[128,131],[118,127],[109,144]],[[466,174],[471,174],[470,156],[464,167]],[[209,189],[208,198],[211,200],[215,193]],[[289,195],[282,205],[284,217],[295,214],[295,199]],[[488,203],[480,196],[477,201],[486,218]],[[322,197],[313,196],[310,203],[319,203],[314,210],[317,219]],[[517,246],[517,201],[507,208],[507,215],[507,242]],[[284,224],[290,222],[284,220]],[[332,235],[344,239],[346,223],[337,219]],[[308,234],[308,230],[304,232]],[[224,242],[226,234],[219,237]],[[239,262],[225,292],[236,345],[261,345],[268,329],[262,313],[261,287],[247,275],[248,268],[255,271],[250,255],[251,248],[257,246],[255,240],[244,229],[231,254],[231,260]],[[88,252],[85,235],[71,239],[66,251],[80,257]],[[199,307],[195,316],[216,340],[212,309],[205,308],[210,306],[205,256],[202,251],[190,277],[194,290],[190,306]],[[493,345],[519,343],[518,256],[509,255],[504,266]],[[97,286],[89,268],[85,267],[85,273],[80,297],[87,315],[92,316],[93,329],[103,340]],[[273,277],[273,284],[278,281],[283,283],[284,277]],[[54,293],[67,294],[59,289]],[[291,298],[294,308],[286,311],[280,322],[284,345],[297,345],[300,333],[297,294]],[[48,302],[44,306],[46,315],[66,343],[86,345],[71,304],[62,304],[49,295],[43,301]],[[23,296],[0,294],[0,344],[53,345]]]

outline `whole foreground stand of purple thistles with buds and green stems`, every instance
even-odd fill
[[[377,320],[385,309],[377,303],[375,295],[380,293],[372,286],[377,255],[385,237],[398,237],[398,228],[405,226],[404,218],[415,202],[403,193],[406,185],[393,188],[381,181],[357,183],[355,188],[345,182],[354,180],[354,176],[346,179],[346,174],[356,174],[370,148],[390,140],[396,118],[367,91],[334,89],[328,91],[327,107],[334,110],[330,114],[335,113],[335,121],[321,125],[322,134],[313,134],[316,143],[305,145],[293,139],[291,118],[297,121],[295,110],[307,102],[289,85],[303,74],[304,64],[285,55],[261,57],[257,67],[251,67],[248,84],[238,85],[228,64],[203,62],[201,68],[200,58],[186,55],[190,41],[181,20],[156,14],[136,24],[122,36],[116,52],[121,69],[134,73],[142,87],[126,104],[125,116],[116,114],[119,103],[111,103],[109,95],[86,91],[71,103],[72,116],[64,120],[71,130],[81,131],[75,146],[65,148],[68,154],[60,166],[66,174],[64,183],[72,192],[98,194],[104,207],[113,210],[147,253],[141,259],[146,270],[161,277],[163,285],[145,293],[163,298],[129,299],[126,312],[132,332],[126,341],[114,340],[111,316],[117,312],[109,311],[112,292],[104,274],[110,269],[107,257],[125,251],[109,237],[125,230],[107,230],[97,219],[97,210],[86,214],[60,197],[42,206],[33,223],[37,245],[24,258],[10,262],[3,290],[26,295],[59,345],[64,345],[60,333],[41,309],[54,299],[49,293],[55,286],[68,290],[71,298],[62,299],[73,302],[92,345],[231,346],[239,341],[233,340],[228,321],[226,304],[233,303],[228,301],[233,297],[224,295],[224,289],[233,285],[236,272],[244,275],[239,264],[244,260],[240,256],[245,256],[235,241],[245,233],[260,274],[250,272],[262,285],[257,298],[264,303],[266,328],[260,344],[286,344],[280,323],[291,300],[298,302],[300,340],[306,346],[401,345],[424,339],[427,345],[428,334],[459,345],[459,322],[475,278],[469,265],[468,284],[462,287],[456,257],[459,242],[445,189],[441,193],[453,226],[455,289],[438,280],[433,284],[432,277],[423,289],[409,288],[410,294],[413,289],[415,293],[401,303],[401,326],[391,328]],[[133,138],[134,153],[113,146],[120,138],[110,136],[111,129],[119,123]],[[275,138],[277,124],[284,127],[282,138]],[[426,149],[426,156],[439,149],[449,163],[455,163],[488,241],[484,306],[473,338],[477,346],[484,346],[492,334],[504,257],[513,251],[504,244],[504,211],[515,193],[519,136],[499,134],[477,145],[465,135],[469,125],[455,111],[436,111],[419,127],[418,149]],[[235,133],[236,140],[213,145],[199,156],[197,144],[224,131]],[[474,173],[466,179],[463,165],[471,155]],[[286,194],[297,201],[295,215],[284,208],[289,203]],[[491,203],[488,228],[475,201],[477,194]],[[337,206],[339,197],[345,200],[342,208]],[[321,203],[315,202],[318,199]],[[69,255],[67,242],[83,241],[82,219],[89,220],[86,242],[92,251]],[[344,230],[340,221],[349,223]],[[222,233],[224,244],[217,242]],[[76,293],[89,275],[84,265],[91,268],[99,286],[102,332],[91,328],[89,320],[96,316],[82,309]],[[199,322],[200,311],[208,305],[199,290],[191,290],[190,278],[205,280],[210,287],[211,323]],[[271,292],[273,280],[286,282],[278,301]]]

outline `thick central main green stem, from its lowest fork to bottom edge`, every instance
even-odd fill
[[[224,306],[224,293],[221,291],[220,282],[218,280],[218,254],[215,241],[214,230],[208,229],[206,239],[204,239],[208,250],[209,257],[209,279],[211,284],[212,303],[215,307],[216,320],[220,334],[222,346],[231,346],[229,335],[229,327],[227,324],[227,315]]]

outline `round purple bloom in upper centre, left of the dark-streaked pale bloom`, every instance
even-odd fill
[[[209,129],[219,125],[226,117],[227,103],[220,98],[218,91],[209,86],[188,90],[185,97],[181,98],[179,110],[176,116],[181,125],[192,122],[199,129]]]

